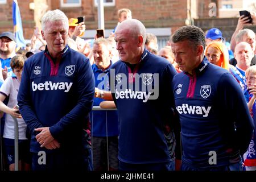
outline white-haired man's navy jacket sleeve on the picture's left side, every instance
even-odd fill
[[[28,63],[28,60],[24,63],[22,80],[20,82],[17,100],[20,114],[22,115],[24,121],[27,123],[27,127],[30,130],[30,132],[33,133],[34,129],[44,126],[40,123],[33,110],[30,92],[31,84]]]

